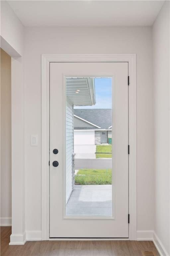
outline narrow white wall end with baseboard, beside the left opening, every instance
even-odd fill
[[[11,244],[24,244],[25,168],[23,59],[11,59],[11,127],[12,127],[12,235]],[[17,120],[17,121],[16,121]],[[33,176],[34,177],[34,176]],[[34,179],[34,178],[33,178]],[[17,235],[15,235],[17,234]]]

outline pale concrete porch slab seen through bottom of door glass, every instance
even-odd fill
[[[66,215],[111,216],[112,185],[75,185]]]

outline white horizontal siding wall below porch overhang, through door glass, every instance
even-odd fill
[[[66,201],[72,191],[73,106],[66,105]]]

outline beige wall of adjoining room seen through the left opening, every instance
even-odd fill
[[[1,225],[11,222],[11,57],[1,49]]]

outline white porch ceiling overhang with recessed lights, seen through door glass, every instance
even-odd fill
[[[95,105],[94,78],[66,78],[66,95],[74,106]]]

